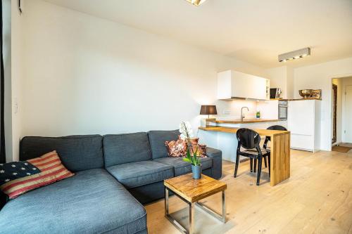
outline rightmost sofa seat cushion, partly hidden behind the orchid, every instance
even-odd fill
[[[181,176],[192,171],[191,164],[189,162],[184,162],[182,157],[161,157],[154,161],[174,167],[175,176]],[[213,160],[210,157],[202,157],[201,164],[202,170],[208,169],[213,166]]]

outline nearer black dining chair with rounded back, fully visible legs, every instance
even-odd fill
[[[234,177],[237,176],[237,169],[239,167],[239,156],[249,157],[251,164],[251,172],[253,171],[253,160],[258,160],[257,186],[259,186],[263,157],[268,157],[270,177],[270,151],[267,151],[264,148],[260,148],[260,136],[256,131],[253,131],[251,129],[238,129],[236,136],[238,144],[236,164],[234,167]],[[244,150],[242,150],[241,148],[243,148]],[[256,172],[256,170],[254,170],[254,172]]]

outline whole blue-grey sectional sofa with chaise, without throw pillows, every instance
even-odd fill
[[[164,196],[163,180],[191,171],[167,157],[165,141],[178,131],[134,134],[25,137],[20,160],[56,150],[75,176],[4,204],[0,233],[147,233],[142,204]],[[221,177],[221,151],[207,148],[203,174]],[[0,207],[1,207],[0,206]]]

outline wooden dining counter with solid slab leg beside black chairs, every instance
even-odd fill
[[[225,126],[199,127],[203,131],[218,131],[236,134],[239,128]],[[270,186],[275,186],[290,176],[290,132],[268,129],[253,129],[260,136],[270,136]],[[236,138],[234,138],[236,141]]]

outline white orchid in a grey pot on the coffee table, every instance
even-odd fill
[[[201,178],[201,159],[197,156],[198,146],[196,151],[194,151],[191,144],[191,138],[194,136],[191,124],[189,122],[182,122],[180,124],[180,133],[180,138],[187,143],[187,155],[183,160],[191,163],[193,178],[199,179]]]

